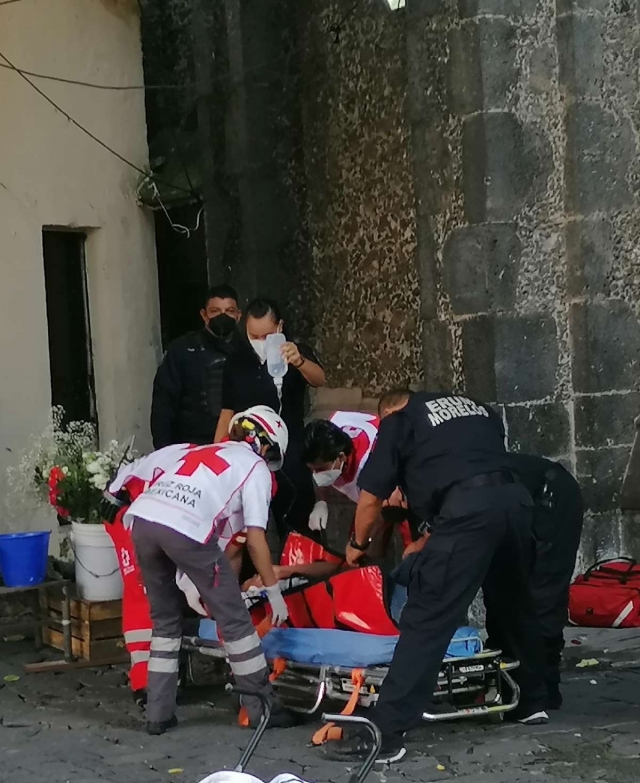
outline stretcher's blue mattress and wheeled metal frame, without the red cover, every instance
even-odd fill
[[[397,638],[338,629],[277,628],[262,643],[283,703],[315,715],[336,701],[345,703],[348,712],[373,706]],[[198,636],[186,637],[184,646],[210,658],[225,657],[212,620],[202,620]],[[499,650],[483,649],[477,629],[458,629],[438,676],[435,706],[423,713],[423,719],[474,718],[515,709],[520,691],[511,672],[518,665],[503,659]]]

